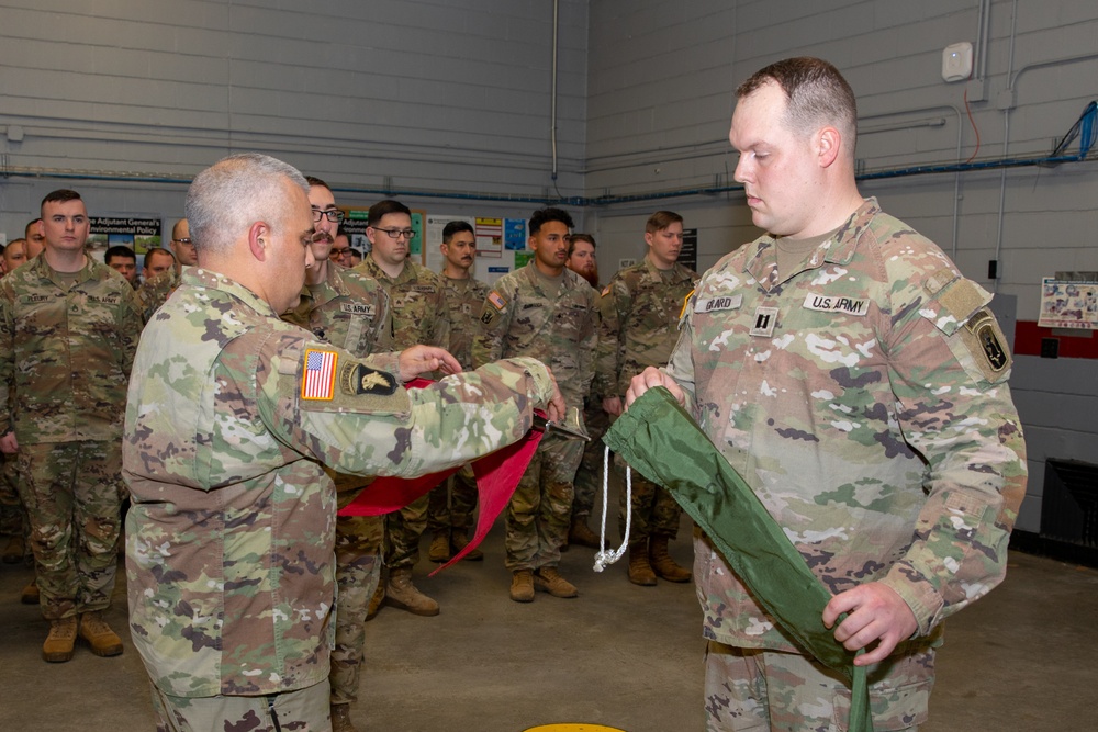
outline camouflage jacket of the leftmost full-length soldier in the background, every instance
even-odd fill
[[[0,281],[0,432],[21,444],[122,436],[141,312],[122,275],[87,260],[68,290],[44,256]]]

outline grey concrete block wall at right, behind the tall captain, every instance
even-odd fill
[[[737,157],[727,135],[735,89],[757,69],[795,55],[827,58],[850,80],[866,171],[974,155],[1047,155],[1098,98],[1098,3],[993,0],[983,100],[975,87],[941,77],[945,46],[975,45],[978,7],[977,0],[591,0],[587,195],[732,183]],[[1009,114],[997,104],[1008,90]],[[1016,295],[1019,320],[1037,319],[1042,275],[1098,270],[1096,161],[872,180],[861,189],[938,241],[966,275]],[[698,228],[701,269],[759,234],[738,192],[595,207],[589,218],[604,280],[619,259],[641,251],[645,219],[657,209],[677,211]],[[993,259],[997,280],[988,279]],[[1044,460],[1098,455],[1098,361],[1021,357],[1011,387],[1031,440],[1030,495],[1019,527],[1037,531]]]

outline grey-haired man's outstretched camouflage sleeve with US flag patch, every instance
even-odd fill
[[[311,359],[333,357],[306,386]],[[529,430],[552,381],[534,359],[509,359],[427,388],[299,334],[272,336],[259,356],[259,412],[293,450],[357,475],[423,475],[493,452]],[[318,390],[318,391],[317,391]],[[315,398],[316,394],[330,398]]]

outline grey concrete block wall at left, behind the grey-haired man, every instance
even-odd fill
[[[586,2],[561,0],[559,22],[556,185],[575,195]],[[0,173],[186,179],[260,150],[334,185],[524,198],[554,184],[551,2],[0,0]],[[3,136],[10,127],[22,140]],[[61,185],[94,213],[165,218],[181,215],[186,192],[79,174],[0,178],[0,230],[21,236],[42,195]],[[480,215],[534,207],[402,198]]]

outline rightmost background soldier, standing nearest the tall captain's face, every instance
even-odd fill
[[[627,267],[602,291],[607,315],[598,329],[598,359],[593,390],[605,394],[607,414],[621,414],[621,396],[629,382],[647,367],[666,364],[679,340],[679,316],[697,272],[679,263],[683,246],[683,217],[657,211],[645,224],[648,252],[639,264]],[[617,460],[618,470],[624,463]],[[690,582],[690,571],[668,554],[668,541],[679,533],[682,509],[675,499],[640,474],[632,475],[632,513],[629,534],[629,582],[651,586],[660,576]],[[621,493],[619,527],[625,534],[626,494]]]

